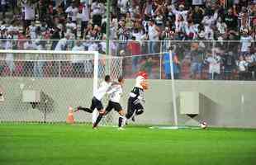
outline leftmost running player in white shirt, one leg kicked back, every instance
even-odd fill
[[[102,105],[102,98],[105,96],[107,91],[111,89],[111,78],[109,75],[105,76],[105,81],[101,83],[101,87],[97,89],[97,92],[95,92],[94,96],[92,97],[92,104],[90,108],[85,108],[82,106],[78,106],[77,110],[73,111],[86,111],[88,113],[92,113],[95,108],[97,108],[97,111],[99,114],[104,114],[104,108]]]

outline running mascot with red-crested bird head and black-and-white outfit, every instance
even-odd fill
[[[128,108],[126,113],[126,120],[132,118],[135,121],[135,115],[141,115],[144,112],[142,104],[145,103],[144,90],[148,88],[146,79],[148,78],[147,73],[140,72],[136,78],[135,87],[130,92],[128,99]]]

